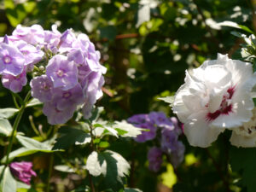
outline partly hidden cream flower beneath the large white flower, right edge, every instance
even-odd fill
[[[256,147],[256,108],[253,108],[253,117],[232,131],[230,143],[236,147]]]

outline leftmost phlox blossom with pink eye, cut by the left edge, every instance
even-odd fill
[[[15,46],[0,43],[0,74],[14,76],[22,73],[25,64],[24,55]]]

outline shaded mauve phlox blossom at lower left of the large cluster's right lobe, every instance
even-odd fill
[[[33,97],[37,98],[40,102],[51,101],[53,83],[46,75],[32,79],[30,86],[32,88]]]

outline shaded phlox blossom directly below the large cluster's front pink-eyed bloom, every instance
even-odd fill
[[[84,94],[80,84],[77,84],[70,90],[61,90],[56,88],[53,90],[52,101],[56,103],[56,108],[64,110],[71,105],[79,105],[84,102]]]

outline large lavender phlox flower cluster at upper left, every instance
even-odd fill
[[[33,72],[32,96],[44,102],[43,112],[51,125],[66,123],[82,106],[84,118],[102,96],[107,69],[100,53],[84,33],[61,33],[52,26],[17,26],[11,36],[0,38],[0,75],[5,88],[20,92],[26,74]]]

